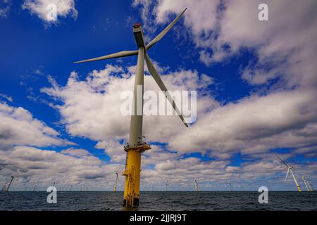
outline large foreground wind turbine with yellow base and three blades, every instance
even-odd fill
[[[134,98],[133,98],[133,110],[130,121],[130,136],[127,146],[125,146],[125,151],[127,152],[125,170],[123,175],[125,176],[125,191],[123,205],[125,207],[133,207],[139,205],[139,178],[141,170],[141,153],[151,149],[151,146],[147,145],[146,142],[142,141],[142,122],[143,122],[143,92],[144,92],[144,59],[147,63],[147,68],[150,74],[154,78],[156,84],[159,85],[160,89],[165,94],[166,98],[173,105],[173,108],[180,120],[188,127],[184,120],[184,117],[178,110],[173,98],[168,93],[168,89],[163,83],[161,77],[157,70],[154,68],[154,64],[147,51],[151,49],[154,44],[160,41],[163,36],[170,30],[170,28],[175,25],[175,23],[180,19],[183,13],[185,13],[187,8],[185,8],[182,13],[180,13],[175,20],[173,20],[170,25],[168,25],[158,36],[156,36],[149,44],[145,44],[143,37],[143,30],[140,23],[133,25],[133,34],[135,36],[135,41],[137,42],[138,50],[135,51],[120,51],[118,53],[113,53],[106,56],[101,56],[98,58],[91,58],[88,60],[81,60],[75,63],[85,63],[96,60],[104,60],[109,58],[120,58],[125,56],[136,56],[137,55],[137,70],[135,72],[135,86],[134,86]]]

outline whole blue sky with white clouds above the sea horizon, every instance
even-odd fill
[[[268,21],[258,18],[268,5]],[[57,20],[47,18],[49,4]],[[317,181],[317,2],[0,1],[0,184],[39,190],[113,189],[125,165],[137,56],[73,64],[136,50],[132,24],[170,90],[197,91],[197,121],[144,116],[151,150],[141,190],[296,191],[287,169]],[[144,89],[159,91],[145,68]],[[119,177],[118,191],[124,179]]]

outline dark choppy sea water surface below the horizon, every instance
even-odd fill
[[[317,192],[271,191],[268,204],[256,191],[144,191],[135,210],[317,210]],[[124,210],[123,192],[59,191],[49,204],[44,191],[0,192],[0,210]]]

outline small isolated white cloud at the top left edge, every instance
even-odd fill
[[[32,15],[37,15],[45,23],[58,23],[58,18],[68,15],[76,19],[78,14],[74,0],[25,0],[22,8],[30,11]],[[51,14],[53,11],[54,16]]]

